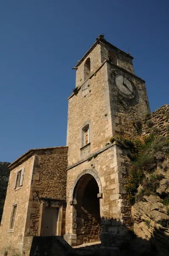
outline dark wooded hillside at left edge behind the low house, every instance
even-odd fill
[[[10,163],[0,162],[0,221],[3,214],[3,206],[6,198],[6,190],[8,186],[8,179],[10,171],[8,165]]]

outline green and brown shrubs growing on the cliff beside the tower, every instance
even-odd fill
[[[155,172],[158,169],[163,169],[165,172],[166,166],[163,166],[163,161],[169,155],[169,137],[155,136],[152,132],[149,136],[144,136],[142,139],[123,138],[123,143],[131,149],[129,155],[131,159],[129,172],[127,176],[127,199],[130,204],[134,204],[137,200],[138,187],[141,185],[139,198],[143,195],[159,195],[157,191],[160,186],[160,181],[166,179],[162,171]],[[166,179],[166,183],[169,180]],[[162,195],[167,198],[168,194]],[[164,200],[165,201],[165,200]]]

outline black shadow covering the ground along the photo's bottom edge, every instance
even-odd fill
[[[101,244],[72,248],[61,236],[37,236],[33,237],[29,255],[169,256],[169,233],[165,228],[154,230],[151,238],[146,240],[138,238],[113,218],[102,218],[101,224]]]

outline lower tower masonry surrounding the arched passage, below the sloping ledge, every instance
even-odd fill
[[[82,163],[77,163],[68,169],[67,176],[67,209],[66,209],[66,235],[65,240],[70,244],[79,243],[76,241],[76,198],[73,198],[74,190],[81,177],[87,174],[92,175],[99,186],[100,197],[100,217],[102,233],[116,230],[116,235],[120,232],[117,225],[111,219],[118,219],[121,224],[130,219],[129,209],[125,200],[125,158],[123,151],[116,145],[108,145],[102,151],[96,151],[96,158]],[[90,155],[92,156],[92,155]],[[109,221],[107,221],[107,219]],[[129,221],[128,221],[129,222]],[[121,228],[122,230],[122,228]],[[87,238],[92,239],[90,234]]]

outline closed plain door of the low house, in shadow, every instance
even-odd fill
[[[58,208],[45,207],[43,236],[56,236]]]

